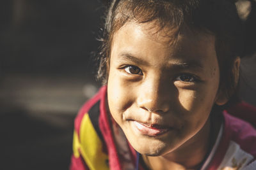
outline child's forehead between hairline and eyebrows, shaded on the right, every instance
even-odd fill
[[[188,30],[175,37],[173,28],[159,29],[156,22],[127,22],[115,32],[111,49],[111,57],[132,53],[147,56],[148,60],[157,60],[161,55],[171,62],[196,59],[204,64],[207,60],[216,60],[215,38],[211,34]]]

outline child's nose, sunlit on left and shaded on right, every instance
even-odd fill
[[[148,78],[138,92],[138,107],[151,113],[166,113],[170,110],[172,94],[171,83],[161,78]]]

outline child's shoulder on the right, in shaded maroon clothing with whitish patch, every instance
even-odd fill
[[[219,168],[249,168],[252,166],[251,162],[255,164],[256,130],[248,122],[228,114],[227,111],[224,111],[223,116],[223,136],[217,152],[222,157]]]

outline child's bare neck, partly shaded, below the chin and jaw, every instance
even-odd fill
[[[211,121],[211,118],[214,120]],[[159,157],[143,155],[145,164],[150,169],[199,169],[211,150],[221,125],[220,120],[215,120],[216,117],[211,118],[193,138],[177,150]],[[211,122],[220,122],[220,124],[212,125]]]

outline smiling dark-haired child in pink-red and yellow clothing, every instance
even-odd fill
[[[70,169],[256,169],[255,129],[223,111],[242,29],[229,0],[113,1]]]

